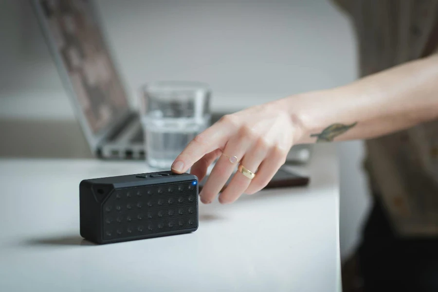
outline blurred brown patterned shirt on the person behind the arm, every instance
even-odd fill
[[[339,2],[357,33],[361,76],[418,59],[438,20],[438,0]],[[368,140],[366,149],[371,187],[396,231],[437,236],[438,121]]]

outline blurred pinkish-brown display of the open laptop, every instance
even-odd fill
[[[128,99],[90,0],[41,0],[49,33],[92,133],[128,110]],[[59,64],[58,64],[59,66]]]

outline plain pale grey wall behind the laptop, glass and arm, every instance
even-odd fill
[[[133,104],[160,79],[206,81],[212,110],[230,111],[357,77],[354,32],[329,0],[96,2]],[[0,37],[0,156],[91,157],[28,1],[0,1]],[[337,149],[345,258],[369,200],[362,142]]]

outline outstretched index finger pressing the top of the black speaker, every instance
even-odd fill
[[[223,149],[230,136],[230,129],[223,123],[215,123],[210,128],[197,135],[181,152],[172,164],[172,171],[186,172],[195,162],[205,154],[218,148]]]

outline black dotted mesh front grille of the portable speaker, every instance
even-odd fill
[[[193,181],[115,189],[103,204],[103,238],[120,239],[198,227]]]

